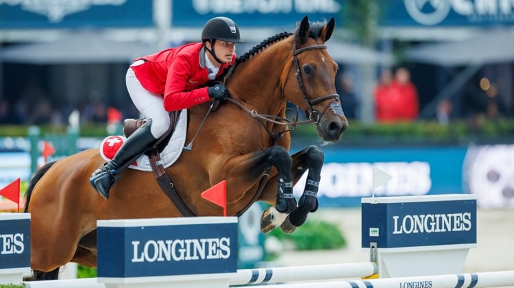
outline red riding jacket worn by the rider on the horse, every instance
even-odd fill
[[[189,108],[209,100],[207,87],[204,87],[209,73],[203,47],[203,43],[190,43],[143,56],[136,60],[146,62],[133,66],[132,70],[147,91],[163,95],[164,109]],[[217,76],[235,60],[234,54],[231,63],[221,64]]]

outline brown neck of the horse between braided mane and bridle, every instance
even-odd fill
[[[290,67],[290,51],[289,41],[282,40],[239,64],[230,80],[233,96],[257,112],[280,116],[285,109],[280,77]]]

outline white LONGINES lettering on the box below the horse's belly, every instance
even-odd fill
[[[230,238],[132,241],[132,262],[228,259]]]

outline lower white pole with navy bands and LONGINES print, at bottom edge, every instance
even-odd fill
[[[487,288],[513,287],[514,271],[481,272],[474,274],[450,274],[435,276],[415,276],[400,278],[380,278],[371,280],[325,281],[317,283],[294,283],[282,285],[266,285],[266,288],[398,288],[398,287],[430,287],[430,288]],[[240,286],[239,288],[253,286]]]

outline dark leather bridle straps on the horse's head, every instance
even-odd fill
[[[336,93],[329,94],[329,95],[325,95],[322,97],[317,97],[316,99],[311,99],[310,97],[308,97],[307,91],[305,90],[304,81],[302,80],[302,72],[300,71],[300,66],[299,66],[299,62],[298,62],[298,54],[302,53],[304,51],[313,50],[313,49],[326,49],[326,45],[312,45],[312,46],[296,49],[296,43],[295,43],[294,50],[293,50],[293,62],[295,62],[295,67],[296,67],[296,73],[295,73],[296,79],[298,80],[298,84],[299,84],[300,88],[302,88],[302,93],[304,93],[304,100],[306,101],[306,104],[307,104],[305,114],[310,121],[313,121],[314,123],[318,123],[319,119],[321,118],[321,115],[323,115],[323,113],[325,113],[328,106],[330,106],[330,104],[332,104],[333,101],[339,100],[339,94],[336,94]],[[287,73],[288,76],[286,77],[286,81],[289,78],[290,72],[291,72],[291,69],[289,69],[289,71]],[[285,88],[286,88],[286,84],[284,83],[284,87],[282,87],[282,95],[284,95]],[[330,101],[330,104],[328,104],[326,106],[326,108],[323,110],[323,112],[321,114],[319,113],[319,111],[313,109],[314,105],[319,104],[322,101],[325,101],[326,99],[332,99],[332,101]]]

